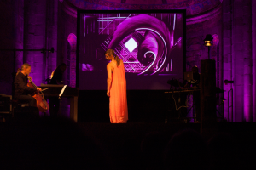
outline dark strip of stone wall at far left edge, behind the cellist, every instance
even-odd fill
[[[0,1],[0,94],[12,93],[12,73],[23,63],[24,0]]]

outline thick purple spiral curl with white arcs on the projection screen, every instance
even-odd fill
[[[137,59],[145,66],[139,74],[161,71],[172,48],[172,37],[166,24],[154,16],[139,14],[125,19],[114,31],[108,48],[115,48],[125,37],[136,31],[145,32],[137,47]]]

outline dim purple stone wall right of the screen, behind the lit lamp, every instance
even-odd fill
[[[187,42],[186,42],[186,71],[192,71],[193,66],[198,66],[201,72],[201,60],[208,59],[208,48],[204,46],[204,39],[207,34],[218,37],[218,44],[210,47],[210,59],[216,61],[216,87],[223,88],[223,55],[222,44],[223,24],[222,12],[218,13],[215,18],[197,22],[186,26]],[[223,94],[217,94],[217,116],[221,117],[224,112],[222,104]]]

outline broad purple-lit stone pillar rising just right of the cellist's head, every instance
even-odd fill
[[[46,2],[31,0],[24,2],[24,49],[43,49],[45,47]],[[40,51],[24,52],[23,62],[32,65],[31,77],[36,85],[43,82],[44,58]]]

